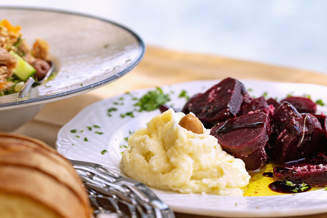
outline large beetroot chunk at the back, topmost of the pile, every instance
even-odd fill
[[[204,94],[192,97],[182,112],[193,112],[206,127],[233,118],[243,102],[242,85],[235,79],[224,79]]]

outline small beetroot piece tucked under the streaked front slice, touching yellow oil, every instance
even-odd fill
[[[249,172],[260,169],[267,160],[265,147],[258,149],[254,153],[246,157],[239,157],[245,163],[245,169]]]

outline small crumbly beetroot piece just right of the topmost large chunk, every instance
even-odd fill
[[[268,105],[265,97],[261,96],[257,99],[252,99],[249,103],[241,106],[239,115],[249,114],[253,112],[264,112],[272,116],[274,114],[275,107]]]

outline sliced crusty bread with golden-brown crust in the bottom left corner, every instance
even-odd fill
[[[0,211],[0,217],[84,218],[92,209],[69,161],[40,140],[0,132]]]

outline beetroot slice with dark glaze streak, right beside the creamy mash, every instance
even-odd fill
[[[234,157],[246,157],[262,149],[269,139],[269,116],[262,112],[246,114],[220,123],[210,133],[222,149]]]

